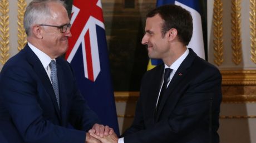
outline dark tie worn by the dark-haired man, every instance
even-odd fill
[[[165,89],[167,88],[167,84],[168,84],[168,81],[169,81],[169,77],[170,77],[171,71],[173,71],[173,69],[166,68],[164,70],[164,83],[163,83],[163,86],[162,86],[162,89],[161,89],[161,92],[160,92],[160,95],[159,95],[158,103],[156,105],[156,112],[159,109],[161,99],[163,98],[164,93],[165,93]]]

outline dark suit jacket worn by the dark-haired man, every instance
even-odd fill
[[[221,74],[192,49],[181,63],[154,118],[164,64],[144,75],[134,122],[125,143],[219,142]]]

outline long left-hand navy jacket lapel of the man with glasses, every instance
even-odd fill
[[[26,47],[24,47],[23,50],[27,54],[26,57],[27,57],[28,62],[32,65],[35,73],[41,79],[43,86],[45,86],[45,90],[50,95],[50,97],[52,99],[53,106],[57,113],[57,116],[61,121],[60,110],[58,109],[58,103],[56,100],[56,96],[55,96],[54,90],[52,88],[51,81],[48,78],[48,75],[45,71],[45,68],[43,68],[43,65],[40,62],[40,59],[38,59],[36,54],[28,47],[28,45],[26,45]]]

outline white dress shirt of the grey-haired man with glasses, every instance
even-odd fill
[[[46,53],[43,53],[40,49],[37,49],[34,45],[32,45],[31,43],[28,42],[28,46],[29,48],[36,54],[36,56],[38,57],[38,59],[40,60],[40,62],[43,65],[43,68],[45,68],[45,71],[48,75],[48,78],[50,79],[51,83],[51,68],[49,66],[49,64],[52,61],[52,58],[49,57]],[[53,59],[55,60],[55,59]]]

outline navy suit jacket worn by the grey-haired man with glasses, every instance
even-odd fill
[[[85,131],[99,123],[77,89],[70,64],[62,58],[56,63],[60,110],[45,68],[28,45],[4,65],[0,132],[8,142],[81,143]]]

